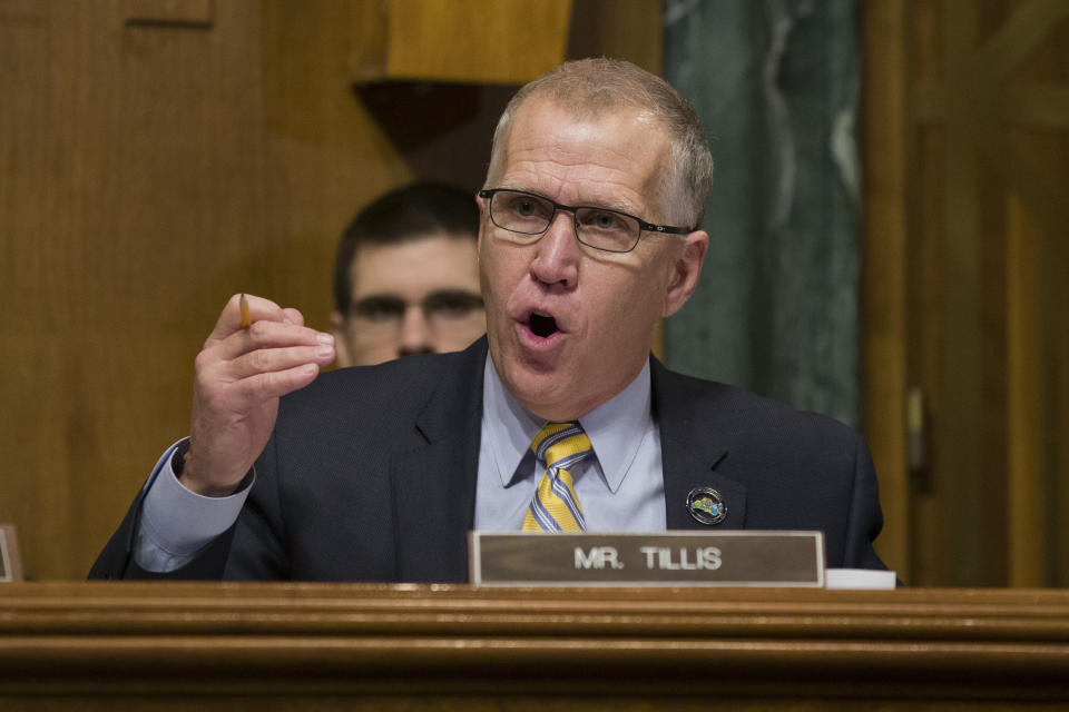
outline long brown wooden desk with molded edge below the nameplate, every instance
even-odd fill
[[[1069,591],[0,586],[0,710],[1069,706]]]

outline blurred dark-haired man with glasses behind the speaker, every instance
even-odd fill
[[[440,184],[392,190],[346,228],[334,263],[339,366],[461,350],[487,330],[474,196]]]

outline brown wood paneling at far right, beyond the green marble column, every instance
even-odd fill
[[[909,97],[892,110],[906,112],[908,141],[890,146],[908,165],[900,345],[931,423],[911,516],[891,525],[910,526],[913,583],[1065,585],[1069,352],[1053,325],[1069,274],[1069,6],[890,4],[904,33],[867,42],[905,50]],[[875,103],[895,89],[866,91]],[[887,174],[874,146],[870,160]],[[870,372],[896,366],[872,355]],[[877,469],[895,465],[880,457]]]

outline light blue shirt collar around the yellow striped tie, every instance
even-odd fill
[[[624,390],[579,418],[590,438],[602,481],[611,492],[619,490],[624,482],[651,421],[648,358]],[[502,487],[527,476],[520,464],[543,425],[545,419],[528,413],[508,392],[488,354],[483,369],[482,428],[490,435],[489,445]]]

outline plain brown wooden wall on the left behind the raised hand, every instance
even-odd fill
[[[0,521],[80,577],[161,448],[236,290],[323,328],[337,235],[411,176],[350,90],[344,1],[0,11]]]

